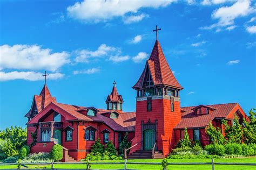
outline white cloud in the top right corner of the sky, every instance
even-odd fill
[[[218,28],[233,25],[235,18],[248,16],[255,11],[254,7],[250,5],[250,0],[238,0],[231,6],[221,7],[212,13],[212,18],[218,19],[218,23],[201,27],[201,29],[211,30],[215,27]]]

